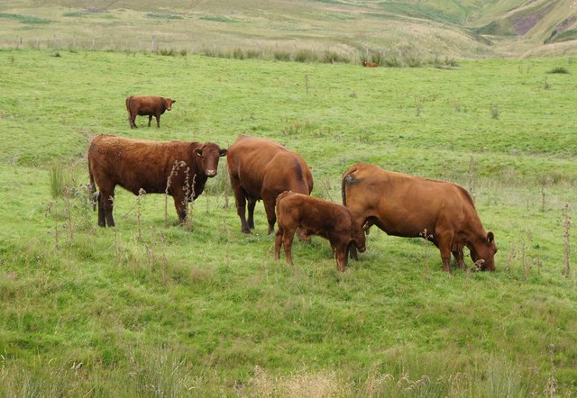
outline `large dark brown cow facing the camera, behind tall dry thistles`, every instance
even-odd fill
[[[99,190],[98,225],[114,227],[116,185],[133,194],[141,189],[146,194],[168,193],[174,199],[179,222],[184,223],[187,202],[202,194],[208,177],[216,176],[218,159],[226,155],[226,149],[213,142],[158,142],[99,135],[90,143],[87,155],[90,191],[95,193],[95,181]]]

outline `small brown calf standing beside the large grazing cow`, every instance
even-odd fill
[[[344,272],[349,249],[365,250],[365,236],[361,224],[353,219],[349,209],[326,202],[317,197],[294,192],[283,192],[277,197],[279,230],[275,234],[274,258],[280,258],[280,247],[285,246],[287,263],[292,264],[291,248],[295,231],[300,229],[307,236],[318,235],[331,242],[336,267]]]

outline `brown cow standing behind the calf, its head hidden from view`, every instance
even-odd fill
[[[264,203],[270,234],[277,220],[274,213],[277,196],[284,191],[310,194],[313,190],[313,175],[305,160],[297,152],[271,140],[241,135],[228,149],[226,162],[244,233],[254,229],[257,201],[262,199]],[[248,222],[244,215],[247,201]]]

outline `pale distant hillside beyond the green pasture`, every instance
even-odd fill
[[[23,0],[0,45],[380,51],[488,58],[577,53],[575,0]],[[153,39],[153,43],[152,39]]]

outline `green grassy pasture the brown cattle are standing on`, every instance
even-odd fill
[[[576,259],[572,59],[398,69],[54,55],[0,51],[0,394],[575,394],[577,285],[562,276]],[[547,73],[560,67],[570,73]],[[130,130],[124,98],[149,94],[177,103],[160,129],[139,117]],[[277,263],[261,204],[255,233],[240,232],[224,162],[193,231],[171,198],[167,226],[162,195],[122,188],[117,228],[98,229],[85,158],[98,133],[268,137],[298,150],[313,194],[334,202],[356,161],[449,179],[495,232],[497,272],[448,276],[432,245],[374,229],[343,275],[318,238],[295,242],[294,267]],[[56,198],[54,167],[74,188]]]

